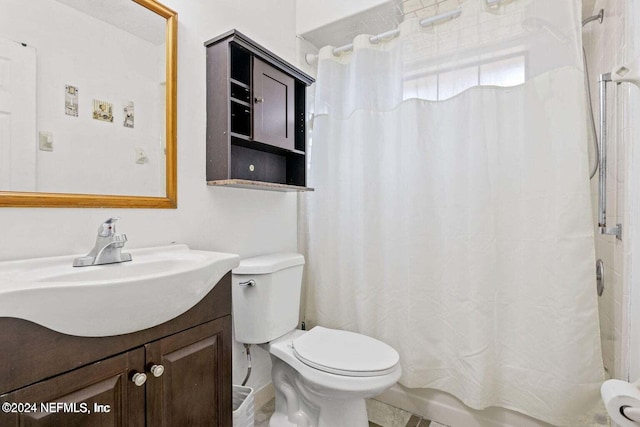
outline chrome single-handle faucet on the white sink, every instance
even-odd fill
[[[87,255],[74,259],[74,267],[131,261],[131,254],[122,253],[127,235],[116,233],[116,221],[119,219],[109,218],[98,228],[95,246]]]

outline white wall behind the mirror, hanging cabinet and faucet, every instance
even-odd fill
[[[205,48],[231,28],[295,63],[294,0],[163,0],[178,12],[178,209],[0,209],[0,260],[84,254],[98,225],[120,216],[127,247],[187,243],[241,257],[295,251],[296,195],[205,185]],[[268,17],[268,19],[265,19]],[[234,346],[234,382],[245,374]],[[249,385],[270,378],[268,355],[253,350]]]

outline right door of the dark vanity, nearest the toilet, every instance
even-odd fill
[[[147,345],[149,427],[232,427],[231,316]]]

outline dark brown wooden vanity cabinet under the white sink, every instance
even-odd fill
[[[231,387],[230,274],[181,316],[127,335],[0,318],[2,427],[232,427]]]

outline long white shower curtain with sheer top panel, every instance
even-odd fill
[[[407,387],[594,425],[580,2],[461,7],[320,52],[306,318],[394,346]]]

